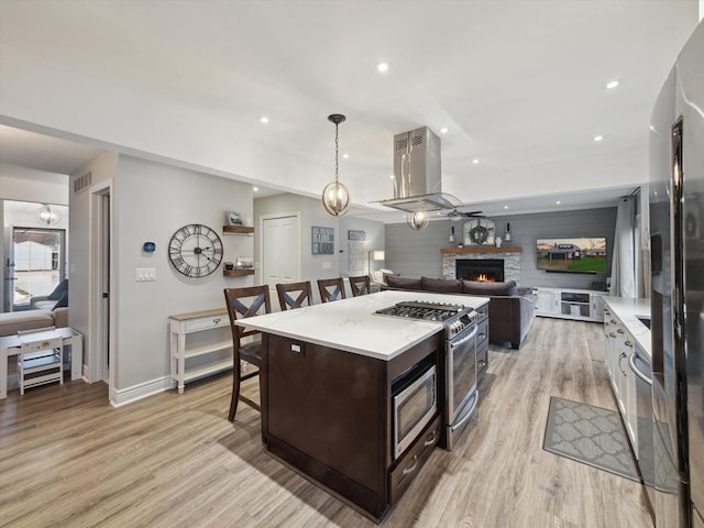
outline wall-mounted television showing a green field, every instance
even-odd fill
[[[538,270],[606,273],[606,238],[538,239]]]

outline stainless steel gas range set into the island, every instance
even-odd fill
[[[480,314],[464,305],[413,300],[377,310],[380,316],[419,319],[442,323],[446,341],[446,448],[451,450],[457,436],[476,409],[476,320]]]

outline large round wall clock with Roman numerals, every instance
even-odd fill
[[[220,266],[222,241],[208,226],[189,223],[172,237],[168,258],[187,277],[206,277]]]

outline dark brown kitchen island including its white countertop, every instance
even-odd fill
[[[473,308],[488,302],[483,297],[381,292],[239,321],[263,332],[262,437],[267,451],[375,520],[442,443],[442,324],[374,315],[407,300]],[[438,373],[438,408],[395,454],[395,381],[418,365]]]

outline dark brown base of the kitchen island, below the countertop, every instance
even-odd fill
[[[392,382],[436,365],[443,402],[442,333],[383,361],[264,333],[262,436],[266,449],[359,512],[380,521],[438,443],[441,405],[394,457]]]

